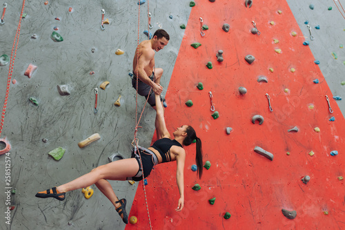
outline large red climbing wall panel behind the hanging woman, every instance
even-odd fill
[[[209,27],[204,37],[199,17]],[[259,36],[250,33],[253,20]],[[229,32],[221,29],[224,23],[230,24]],[[290,35],[293,31],[296,37]],[[242,0],[196,1],[166,94],[166,123],[171,132],[182,124],[192,125],[202,140],[204,160],[212,165],[197,180],[190,170],[195,164],[195,145],[186,147],[186,208],[181,212],[175,211],[179,199],[176,164],[156,166],[146,186],[154,229],[345,228],[344,180],[338,180],[345,176],[345,120],[303,41],[286,1],[255,1],[252,8],[246,8]],[[190,46],[194,42],[202,45],[195,49]],[[277,48],[282,53],[275,52]],[[218,50],[224,51],[221,63]],[[246,63],[246,55],[255,57],[253,64]],[[212,69],[206,68],[208,61]],[[268,83],[258,83],[259,75],[266,75]],[[316,78],[319,84],[313,83]],[[204,90],[196,88],[198,82]],[[239,86],[248,93],[239,95]],[[209,91],[218,119],[211,117]],[[333,114],[328,112],[325,95],[331,99]],[[192,107],[185,105],[188,99]],[[261,126],[251,122],[257,114],[265,119]],[[332,116],[335,122],[329,121]],[[288,133],[293,126],[299,132]],[[230,135],[226,127],[233,128]],[[315,132],[315,127],[321,131]],[[255,146],[273,153],[274,160],[255,153]],[[311,151],[315,155],[308,155]],[[331,156],[331,151],[339,155]],[[311,176],[308,184],[301,181],[305,175]],[[195,183],[201,190],[191,189]],[[210,205],[213,197],[215,204]],[[297,218],[288,220],[281,209],[297,211]],[[229,220],[223,218],[226,211],[232,214]],[[126,229],[148,229],[141,187],[130,215],[136,215],[138,222]]]

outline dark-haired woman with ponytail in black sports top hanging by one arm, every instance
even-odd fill
[[[98,166],[96,169],[92,169],[90,173],[82,175],[80,178],[72,180],[67,184],[41,191],[36,194],[36,197],[65,200],[66,192],[96,184],[97,188],[106,195],[110,202],[112,202],[122,220],[127,224],[128,215],[126,213],[126,199],[119,200],[107,180],[142,180],[143,175],[138,155],[138,153],[140,153],[142,165],[144,167],[144,178],[150,175],[152,167],[156,164],[176,160],[176,179],[180,194],[176,211],[181,211],[184,208],[184,161],[186,159],[186,152],[183,146],[190,145],[193,140],[197,141],[197,154],[195,160],[197,162],[197,173],[199,178],[201,178],[203,169],[201,140],[197,137],[192,126],[187,125],[177,128],[176,131],[172,133],[174,139],[171,140],[170,134],[166,129],[164,110],[159,95],[155,95],[155,100],[157,106],[155,126],[159,140],[152,144],[152,146],[148,149],[139,146],[139,150],[134,151],[136,154],[132,154],[132,158],[130,159],[117,160],[109,164]]]

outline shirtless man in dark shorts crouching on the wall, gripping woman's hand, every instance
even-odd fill
[[[156,109],[155,94],[161,95],[163,87],[159,84],[161,75],[163,75],[162,68],[155,68],[155,51],[163,49],[168,44],[170,37],[165,30],[156,30],[152,39],[141,41],[139,44],[139,58],[137,58],[138,50],[135,50],[133,59],[133,78],[132,86],[137,89],[137,75],[138,94],[148,98],[148,104]],[[138,49],[137,48],[137,49]],[[137,62],[138,59],[138,62]],[[152,88],[150,95],[150,88]]]

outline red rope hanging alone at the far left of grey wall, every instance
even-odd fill
[[[10,58],[10,67],[8,68],[6,97],[5,97],[5,102],[3,103],[3,109],[2,109],[2,113],[1,113],[0,136],[1,136],[2,128],[3,128],[3,119],[5,118],[5,113],[6,113],[8,93],[10,93],[10,82],[11,82],[11,77],[12,77],[12,73],[13,73],[14,59],[16,59],[16,55],[17,55],[17,48],[18,48],[18,44],[19,44],[19,35],[21,32],[21,17],[23,16],[24,6],[25,6],[25,0],[23,0],[23,6],[21,7],[21,15],[19,17],[17,32],[16,32],[16,36],[14,37],[13,46],[12,46],[12,52],[11,52],[11,58]],[[15,48],[14,48],[14,46],[15,46]],[[14,55],[13,55],[13,51],[14,51]]]

